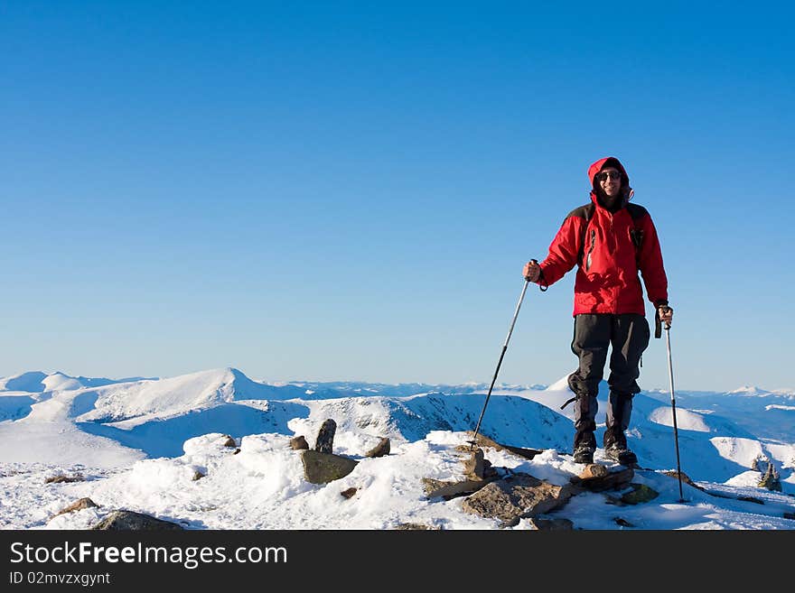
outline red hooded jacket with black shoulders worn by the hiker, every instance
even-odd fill
[[[594,175],[607,159],[594,162],[588,177]],[[621,162],[613,161],[622,171],[622,189],[629,190],[629,177]],[[631,195],[631,194],[630,194]],[[614,214],[601,206],[594,191],[594,204],[572,210],[549,246],[541,262],[539,283],[552,284],[577,265],[574,315],[580,313],[639,313],[645,315],[640,272],[649,301],[668,303],[668,279],[662,264],[657,230],[646,208],[629,203]],[[588,211],[591,210],[590,220]],[[585,229],[585,232],[584,232]],[[635,246],[633,237],[640,246]],[[584,240],[585,238],[585,240]]]

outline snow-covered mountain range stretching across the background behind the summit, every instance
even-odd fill
[[[0,461],[83,463],[105,459],[103,447],[141,458],[182,454],[185,440],[210,432],[236,438],[278,432],[312,441],[327,418],[351,438],[420,440],[430,431],[472,430],[488,385],[304,382],[270,385],[235,368],[170,378],[112,380],[62,373],[23,373],[0,379],[0,440],[64,440],[50,459],[31,459],[30,448],[0,450]],[[606,386],[600,394],[603,422]],[[571,447],[571,393],[565,377],[553,385],[497,385],[482,432],[505,444],[535,449]],[[724,482],[755,459],[771,459],[784,482],[795,467],[795,394],[743,388],[729,393],[676,394],[683,469]],[[651,468],[675,468],[669,394],[634,398],[631,447]],[[61,435],[61,436],[59,436]],[[597,438],[601,433],[597,434]],[[121,449],[118,449],[121,448]],[[37,455],[41,457],[39,449]],[[691,471],[693,470],[691,469]]]

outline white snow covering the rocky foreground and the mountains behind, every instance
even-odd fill
[[[461,497],[428,499],[422,484],[424,477],[463,478],[456,448],[468,440],[486,392],[487,386],[474,384],[271,385],[234,368],[163,379],[41,372],[0,379],[0,529],[87,529],[117,508],[197,530],[383,530],[406,523],[500,529],[495,520],[463,512]],[[600,390],[597,439],[606,393]],[[572,406],[560,406],[571,395],[566,377],[546,388],[496,385],[482,433],[541,453],[523,459],[486,448],[486,459],[552,484],[568,483],[582,469],[566,455]],[[785,420],[791,423],[786,402],[793,394],[758,387],[678,394],[682,470],[699,486],[683,483],[684,502],[678,480],[663,473],[676,468],[667,397],[637,394],[628,431],[642,466],[633,482],[659,496],[616,506],[607,496],[621,492],[579,494],[547,518],[566,518],[585,530],[795,528],[784,517],[795,513],[795,437]],[[346,477],[315,485],[304,479],[289,440],[304,435],[312,447],[328,418],[337,424],[334,452],[358,464]],[[382,437],[390,439],[390,454],[365,457]],[[603,449],[596,460],[614,465]],[[758,486],[768,460],[780,475],[781,492]],[[59,474],[82,479],[45,483]],[[342,496],[349,488],[355,493]],[[54,516],[84,496],[99,507]],[[618,517],[633,527],[622,527]],[[529,528],[523,520],[510,529]]]

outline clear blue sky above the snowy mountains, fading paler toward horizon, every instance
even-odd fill
[[[614,155],[676,386],[795,388],[793,9],[639,4],[4,3],[0,375],[488,383]],[[500,381],[575,368],[573,284]]]

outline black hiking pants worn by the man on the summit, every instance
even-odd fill
[[[637,379],[641,375],[643,351],[649,346],[649,322],[637,313],[582,314],[575,316],[572,352],[579,358],[577,370],[569,375],[568,384],[575,392],[575,448],[587,444],[595,449],[596,395],[610,356],[610,385],[607,406],[605,446],[614,440],[626,445],[623,431],[630,425],[632,396],[640,393]]]

